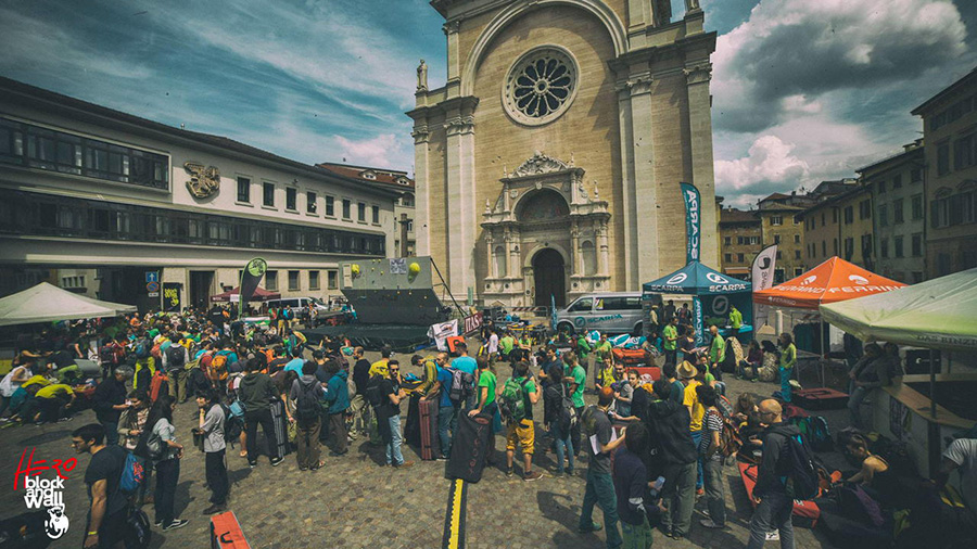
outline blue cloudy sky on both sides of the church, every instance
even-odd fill
[[[676,15],[683,0],[673,1]],[[718,193],[812,188],[921,137],[909,112],[977,66],[973,0],[701,0]],[[291,158],[413,171],[427,0],[0,0],[0,75]]]

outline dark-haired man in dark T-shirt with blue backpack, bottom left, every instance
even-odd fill
[[[105,427],[98,423],[76,429],[72,433],[72,447],[77,454],[91,455],[85,470],[89,508],[83,547],[124,548],[129,503],[118,490],[118,483],[126,450],[105,444]]]

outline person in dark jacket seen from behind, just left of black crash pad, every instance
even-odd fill
[[[241,380],[238,387],[238,397],[244,407],[244,424],[248,432],[248,464],[254,469],[257,465],[257,426],[262,425],[265,433],[265,443],[268,445],[268,457],[271,467],[282,462],[275,444],[275,422],[271,418],[271,401],[279,398],[278,387],[271,382],[267,373],[262,373],[262,361],[257,358],[248,359],[248,373]]]

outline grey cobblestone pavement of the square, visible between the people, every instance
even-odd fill
[[[408,357],[399,358],[403,370],[411,372]],[[507,366],[499,365],[500,383],[508,378],[508,370]],[[744,391],[770,394],[776,388],[773,384],[740,382],[729,375],[726,382],[727,394],[733,399]],[[592,375],[588,375],[588,384],[593,384]],[[587,399],[593,400],[594,397],[587,395]],[[535,417],[542,418],[542,400],[537,406],[540,409]],[[406,414],[406,406],[403,408]],[[37,448],[35,459],[67,459],[73,456],[71,432],[93,420],[93,413],[86,411],[71,422],[0,431],[0,452],[4,458],[0,462],[0,480],[12,486],[17,461],[25,447]],[[190,524],[169,533],[156,528],[152,547],[208,547],[208,520],[201,511],[208,505],[210,493],[204,488],[203,454],[192,449],[190,441],[194,421],[195,406],[190,403],[181,405],[175,424],[179,439],[188,450],[181,464],[176,509],[178,516],[190,519]],[[833,426],[836,425],[834,416],[829,417],[829,421]],[[496,448],[504,447],[504,439],[498,437]],[[344,457],[323,456],[327,464],[317,472],[300,472],[294,455],[287,457],[278,468],[271,468],[267,458],[262,458],[258,467],[251,470],[246,460],[238,456],[238,449],[228,450],[232,483],[229,507],[237,514],[253,548],[441,547],[449,488],[449,482],[444,478],[443,463],[422,462],[414,449],[405,448],[406,459],[417,463],[414,468],[382,468],[379,467],[382,450],[371,449],[361,439],[356,441]],[[78,456],[78,467],[69,473],[71,480],[65,483],[64,498],[71,529],[64,538],[52,544],[53,548],[81,545],[88,508],[84,484],[88,461],[87,455]],[[535,463],[536,468],[549,470],[554,465],[553,455],[537,452]],[[698,519],[701,515],[697,511],[688,539],[676,541],[656,533],[656,548],[743,547],[746,544],[750,506],[735,465],[727,467],[725,471],[728,527],[723,531],[700,527]],[[46,473],[42,477],[52,476]],[[482,481],[468,490],[468,547],[604,547],[602,533],[585,536],[576,533],[584,485],[582,475],[566,478],[547,475],[540,481],[524,483],[518,475],[506,478],[502,469],[486,470]],[[0,516],[9,518],[26,510],[22,497],[23,490],[2,490]],[[696,508],[705,509],[705,501]],[[145,511],[152,520],[151,506],[147,506]],[[599,508],[594,519],[597,523],[601,522]],[[820,532],[796,528],[796,538],[797,547],[801,549],[832,547]],[[774,541],[767,546],[778,547]]]

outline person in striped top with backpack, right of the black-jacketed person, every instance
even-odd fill
[[[707,528],[726,527],[726,507],[723,491],[723,461],[722,452],[723,416],[716,408],[715,390],[709,385],[696,387],[699,403],[706,407],[702,417],[702,438],[699,442],[699,456],[703,468],[702,476],[706,487],[706,505],[709,509],[709,518],[699,521]]]

